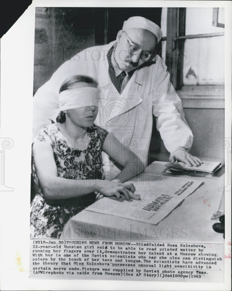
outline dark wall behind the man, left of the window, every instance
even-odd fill
[[[160,25],[161,8],[37,7],[33,93],[79,51],[115,40],[124,20],[135,15]]]

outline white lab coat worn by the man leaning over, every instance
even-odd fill
[[[55,120],[59,113],[58,94],[69,76],[82,74],[98,81],[101,104],[95,124],[127,145],[147,163],[152,130],[152,114],[157,129],[169,152],[189,150],[193,135],[184,118],[181,100],[169,80],[167,68],[159,56],[156,63],[136,70],[120,95],[108,73],[108,45],[90,47],[63,63],[33,100],[33,134]]]

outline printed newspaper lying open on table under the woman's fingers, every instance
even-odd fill
[[[141,200],[128,201],[123,197],[120,200],[102,198],[85,210],[158,224],[201,184],[202,181],[153,175],[152,181],[137,181],[134,183],[135,194],[139,194]]]

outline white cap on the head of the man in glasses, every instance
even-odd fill
[[[122,29],[129,28],[142,28],[151,31],[158,39],[158,42],[162,38],[162,30],[160,27],[152,22],[151,20],[141,17],[141,16],[133,16],[124,21]]]

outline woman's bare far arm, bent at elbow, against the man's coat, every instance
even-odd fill
[[[131,150],[120,143],[113,134],[106,136],[103,151],[124,167],[122,172],[114,180],[125,182],[142,173],[145,169],[141,160]]]

